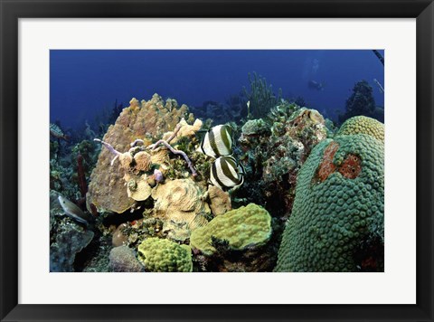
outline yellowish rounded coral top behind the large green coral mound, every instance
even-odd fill
[[[367,134],[384,143],[384,124],[375,118],[363,116],[348,118],[339,128],[336,136],[351,134]]]

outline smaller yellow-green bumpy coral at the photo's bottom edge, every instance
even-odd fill
[[[138,246],[138,260],[146,271],[192,271],[192,251],[187,245],[148,238]]]

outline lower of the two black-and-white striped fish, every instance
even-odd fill
[[[244,183],[244,168],[233,156],[221,156],[212,162],[210,181],[222,190],[238,187]]]

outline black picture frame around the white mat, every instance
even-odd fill
[[[0,0],[0,17],[2,28],[0,38],[0,317],[2,321],[433,321],[434,5],[430,0],[112,0],[106,2]],[[254,306],[18,304],[18,20],[22,17],[417,18],[417,304]]]

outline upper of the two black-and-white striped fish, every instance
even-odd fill
[[[218,157],[232,154],[232,128],[218,125],[206,132],[198,148],[204,155]]]

